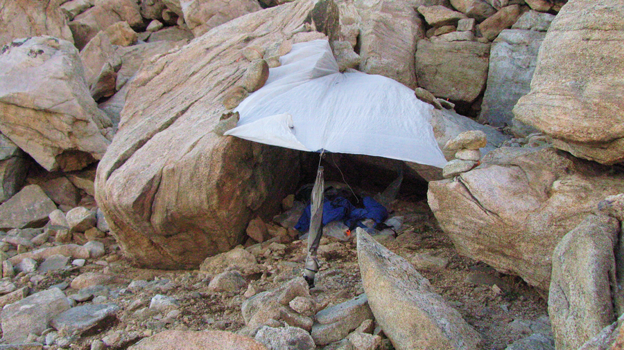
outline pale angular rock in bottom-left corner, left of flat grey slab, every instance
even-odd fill
[[[59,288],[51,288],[4,306],[2,318],[3,340],[24,342],[30,333],[40,335],[53,317],[69,309],[67,297]]]

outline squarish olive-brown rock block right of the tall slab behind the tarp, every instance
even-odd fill
[[[437,98],[474,102],[485,89],[489,44],[420,40],[416,50],[418,86]]]

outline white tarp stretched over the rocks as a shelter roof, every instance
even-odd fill
[[[238,125],[225,133],[302,151],[365,154],[444,167],[433,107],[387,77],[340,73],[329,42],[293,49],[266,84],[243,100]]]

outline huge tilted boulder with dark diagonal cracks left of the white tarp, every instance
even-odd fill
[[[331,1],[287,3],[144,64],[96,176],[98,205],[125,255],[142,266],[197,268],[241,243],[256,213],[280,209],[297,183],[297,153],[212,130],[250,64],[245,47],[286,41],[306,20],[337,34],[337,14]]]

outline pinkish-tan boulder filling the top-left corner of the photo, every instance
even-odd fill
[[[50,35],[73,42],[64,0],[5,0],[0,6],[0,46],[15,39]]]

